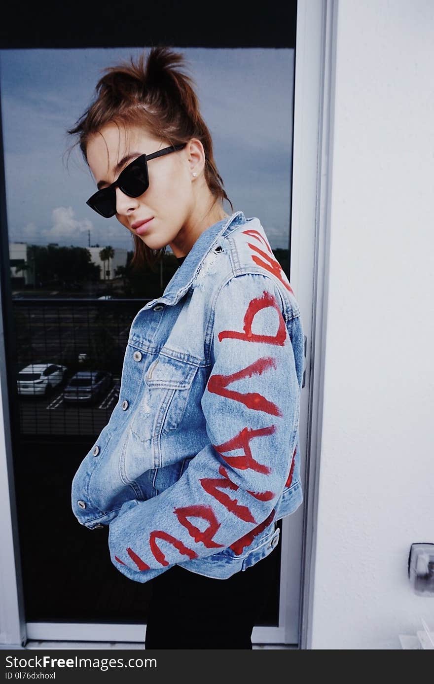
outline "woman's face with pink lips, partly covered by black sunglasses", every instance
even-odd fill
[[[158,140],[144,129],[116,124],[106,124],[94,133],[88,142],[86,155],[90,170],[100,187],[107,187],[118,178],[120,172],[136,157],[150,155],[170,146],[166,140]],[[116,164],[132,154],[120,170]],[[151,249],[170,244],[181,228],[188,222],[195,205],[192,172],[203,168],[203,147],[197,140],[190,141],[183,150],[162,155],[148,162],[149,188],[140,197],[129,197],[116,187],[116,218],[131,233],[133,224],[153,217],[146,224],[146,231],[138,235]]]

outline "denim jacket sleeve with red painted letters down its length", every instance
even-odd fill
[[[134,579],[227,547],[239,553],[272,523],[298,428],[291,325],[272,278],[244,273],[220,288],[201,400],[209,444],[175,484],[122,505],[109,531],[121,573]]]

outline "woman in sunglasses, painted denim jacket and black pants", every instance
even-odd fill
[[[87,204],[130,231],[133,265],[168,245],[179,261],[133,319],[118,404],[72,506],[82,525],[109,525],[120,573],[152,582],[146,648],[252,648],[276,522],[303,501],[303,328],[259,220],[222,208],[182,62],[155,47],[107,68],[68,131],[97,183]]]

